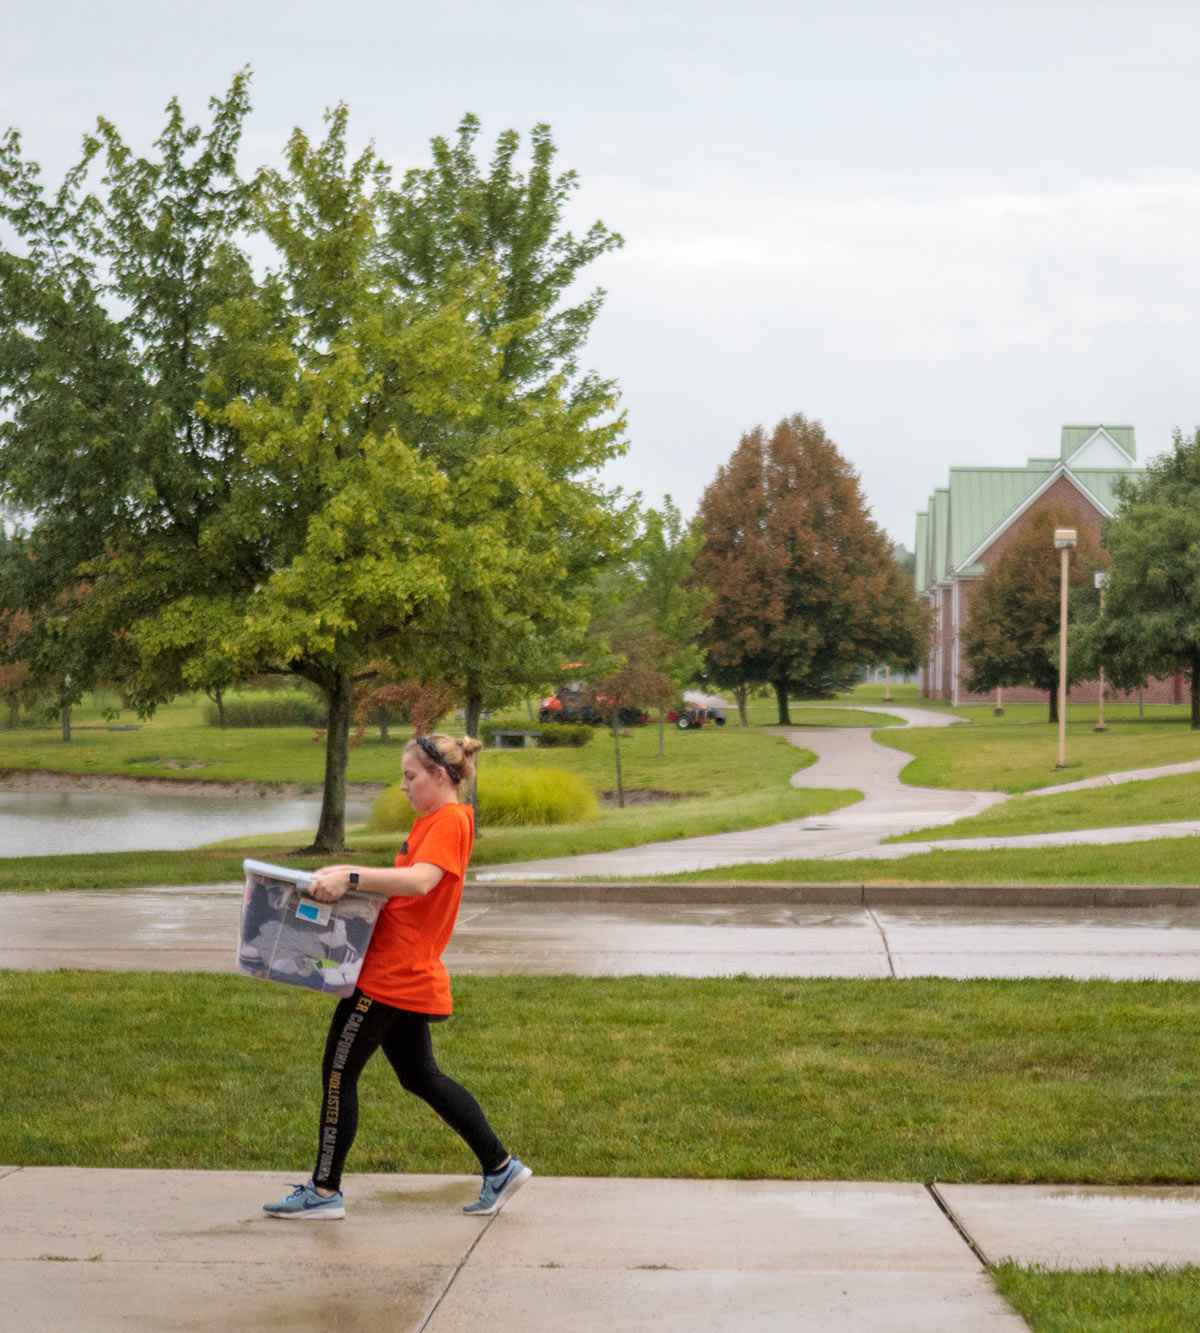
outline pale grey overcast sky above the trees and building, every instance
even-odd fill
[[[1200,424],[1195,0],[0,0],[0,128],[51,180],[97,115],[145,148],[253,68],[247,167],[349,104],[397,171],[464,112],[548,121],[572,223],[625,248],[585,364],[608,480],[695,512],[740,435],[803,412],[913,544],[952,464],[1068,423],[1139,455]]]

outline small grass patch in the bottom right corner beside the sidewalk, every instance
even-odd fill
[[[1200,1329],[1200,1268],[1064,1272],[995,1264],[1000,1294],[1033,1333],[1180,1333]]]

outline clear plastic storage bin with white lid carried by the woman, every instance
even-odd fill
[[[351,890],[336,902],[305,892],[312,876],[264,861],[243,861],[237,970],[332,996],[353,993],[384,900]]]

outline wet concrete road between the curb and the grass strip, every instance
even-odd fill
[[[608,902],[468,888],[445,962],[460,976],[1200,980],[1196,894],[1183,905],[1048,906],[1029,892],[1024,906],[964,906],[789,901],[787,886],[772,901],[771,886],[756,885],[757,901],[679,901],[701,888]],[[857,886],[831,892],[839,888]],[[633,892],[653,898],[655,886],[615,890]],[[0,966],[233,972],[240,910],[240,885],[3,894]]]

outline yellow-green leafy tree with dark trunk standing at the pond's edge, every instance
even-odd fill
[[[437,441],[481,411],[499,356],[476,293],[397,292],[381,237],[387,172],[351,160],[347,112],[292,136],[255,181],[277,264],[216,312],[205,419],[239,443],[228,499],[200,535],[212,587],[164,601],[132,640],[191,684],[271,664],[328,705],[315,846],[344,841],[355,684],[413,621],[436,619],[464,552]]]

